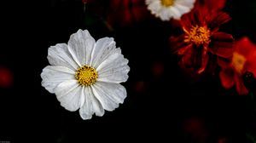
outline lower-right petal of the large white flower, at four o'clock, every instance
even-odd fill
[[[96,82],[91,87],[96,99],[107,111],[113,111],[125,100],[126,90],[118,83]]]

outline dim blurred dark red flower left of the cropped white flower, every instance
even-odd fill
[[[110,0],[108,22],[125,26],[143,20],[147,13],[144,0]]]

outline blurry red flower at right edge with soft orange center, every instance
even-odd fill
[[[234,48],[231,62],[218,61],[219,66],[222,67],[219,73],[221,83],[225,89],[236,85],[238,94],[248,94],[242,75],[245,72],[253,72],[256,75],[256,44],[251,43],[247,37],[242,37]]]

